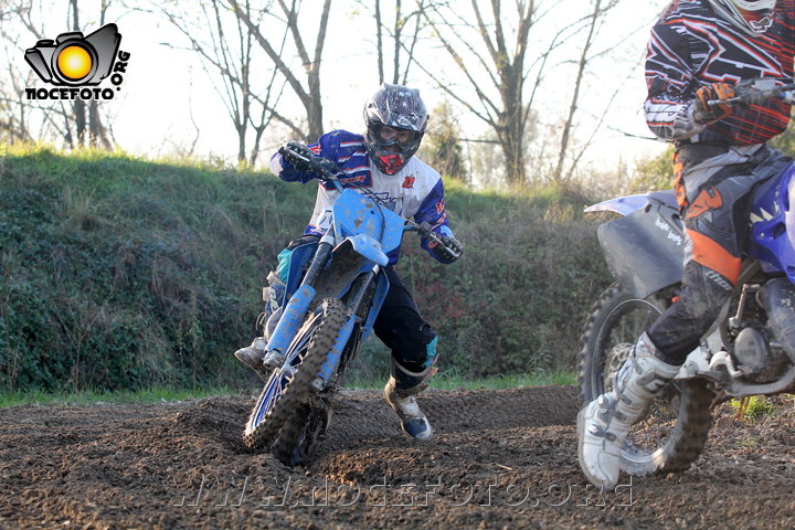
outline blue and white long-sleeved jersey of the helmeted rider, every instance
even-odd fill
[[[332,160],[344,172],[338,177],[343,188],[365,187],[377,193],[393,212],[417,223],[427,222],[439,236],[452,236],[444,202],[442,177],[428,165],[412,157],[394,174],[382,173],[364,149],[364,137],[346,130],[332,130],[321,136],[317,144],[308,146],[316,155]],[[293,166],[276,152],[271,157],[271,171],[287,182],[309,182],[315,177],[296,171]],[[322,235],[331,221],[331,205],[339,197],[332,184],[319,182],[315,211],[305,230],[305,234]],[[427,239],[422,247],[439,262]],[[389,255],[390,264],[398,262],[400,248]]]

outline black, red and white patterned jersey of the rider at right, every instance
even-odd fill
[[[646,121],[667,140],[762,144],[783,132],[791,105],[767,99],[698,126],[690,118],[696,91],[712,83],[793,77],[795,0],[778,0],[773,24],[759,36],[731,25],[706,0],[675,0],[651,29],[646,54]]]

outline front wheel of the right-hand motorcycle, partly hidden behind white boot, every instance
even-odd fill
[[[666,296],[637,298],[617,283],[602,294],[581,337],[579,382],[584,404],[613,390],[614,375],[635,341],[669,305]],[[670,382],[629,431],[622,469],[640,476],[690,467],[712,425],[712,398],[703,380]]]

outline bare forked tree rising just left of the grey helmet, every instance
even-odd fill
[[[287,28],[293,39],[293,45],[295,46],[295,52],[301,62],[306,82],[301,82],[301,80],[298,78],[286,61],[285,54],[278,51],[280,50],[279,45],[275,44],[269,35],[266,36],[263,34],[261,25],[252,19],[251,11],[247,11],[246,7],[242,6],[240,1],[230,0],[230,6],[232,7],[234,13],[248,28],[248,31],[259,44],[259,47],[268,56],[278,73],[284,76],[285,82],[289,85],[304,106],[307,118],[307,131],[300,136],[307,142],[315,141],[320,135],[322,135],[324,131],[320,65],[324,44],[326,42],[326,30],[331,10],[331,0],[324,0],[322,9],[320,11],[320,22],[315,40],[315,50],[311,57],[307,52],[307,45],[304,36],[301,36],[301,31],[298,29],[299,2],[297,0],[290,0],[288,6],[285,0],[277,0],[277,3],[282,14],[284,15],[284,18],[280,19],[280,22]],[[269,14],[276,17],[275,13]],[[275,114],[275,117],[295,132],[301,130],[296,121],[278,114]]]

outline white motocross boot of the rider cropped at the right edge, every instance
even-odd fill
[[[662,362],[646,333],[615,377],[613,390],[577,414],[580,467],[594,486],[612,491],[618,484],[621,451],[629,427],[646,405],[679,372]]]

